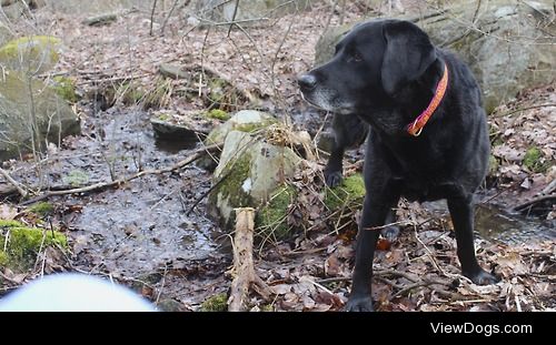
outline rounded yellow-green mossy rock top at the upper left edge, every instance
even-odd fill
[[[0,48],[0,65],[26,74],[41,74],[58,63],[60,49],[61,40],[54,37],[22,37]]]

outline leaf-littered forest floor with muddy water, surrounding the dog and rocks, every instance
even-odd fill
[[[225,106],[228,112],[261,109],[289,119],[311,135],[324,123],[324,114],[302,102],[295,81],[311,68],[315,44],[325,28],[339,21],[340,16],[328,6],[245,30],[199,28],[187,18],[171,18],[165,34],[157,23],[150,34],[147,11],[121,12],[116,22],[102,27],[85,26],[85,17],[43,10],[36,13],[32,27],[14,26],[21,33],[63,40],[66,48],[53,73],[72,78],[82,95],[75,105],[82,135],[67,138],[41,158],[3,163],[30,190],[52,190],[75,179],[81,179],[80,185],[107,182],[187,158],[199,144],[157,139],[149,119],[211,106],[215,87],[199,80],[198,71],[218,75],[245,97],[230,95],[234,102]],[[353,22],[359,17],[360,9],[348,6],[342,20]],[[190,79],[161,78],[160,63],[183,67]],[[409,225],[403,226],[398,239],[383,241],[375,260],[377,310],[556,310],[556,207],[554,199],[538,200],[555,190],[555,88],[524,90],[489,116],[497,165],[479,193],[476,247],[481,265],[502,282],[477,286],[459,275],[445,205],[401,202],[397,216]],[[128,89],[139,95],[130,101]],[[217,124],[218,120],[202,123]],[[534,162],[525,159],[532,148],[540,151],[534,152]],[[348,154],[347,174],[360,169],[361,158],[363,149]],[[256,247],[256,271],[274,294],[265,301],[252,292],[254,311],[338,311],[347,301],[359,213],[353,212],[341,230],[328,221],[318,179],[324,160],[315,163],[299,172],[297,181],[306,187],[309,205],[305,231],[288,241]],[[307,176],[310,183],[299,182]],[[209,172],[190,164],[117,187],[50,196],[54,210],[43,217],[26,213],[29,204],[20,204],[16,196],[6,197],[1,219],[60,229],[70,248],[40,253],[27,272],[0,270],[0,294],[41,274],[78,271],[125,283],[161,310],[209,308],[201,305],[215,296],[211,301],[218,305],[218,296],[225,298],[229,290],[232,257],[226,250],[229,245],[222,245],[229,236],[206,215],[202,196],[210,179]],[[538,202],[526,205],[532,200]]]

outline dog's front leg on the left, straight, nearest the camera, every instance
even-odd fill
[[[346,305],[348,312],[373,312],[370,280],[373,277],[373,260],[380,230],[393,204],[376,203],[373,196],[365,197],[359,233],[357,234],[356,260],[351,294]]]

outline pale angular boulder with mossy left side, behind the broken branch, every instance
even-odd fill
[[[292,175],[300,160],[289,148],[269,144],[246,132],[229,132],[212,177],[209,213],[230,229],[235,207],[261,206]]]

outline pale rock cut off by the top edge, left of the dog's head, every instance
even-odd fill
[[[302,11],[309,7],[307,0],[200,0],[197,2],[199,17],[216,21],[256,20]]]

